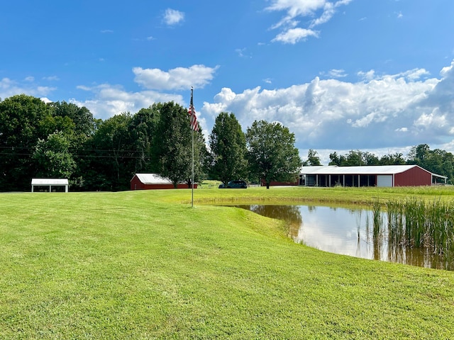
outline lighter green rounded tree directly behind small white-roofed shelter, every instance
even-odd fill
[[[46,140],[38,139],[32,158],[36,162],[35,176],[69,179],[76,168],[70,141],[63,132],[54,132]]]

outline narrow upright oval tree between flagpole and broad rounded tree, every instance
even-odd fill
[[[233,179],[244,179],[248,171],[246,138],[233,113],[222,112],[216,117],[209,143],[211,177],[225,185]]]

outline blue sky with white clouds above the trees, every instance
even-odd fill
[[[454,152],[452,0],[4,1],[0,98],[278,121],[315,149]]]

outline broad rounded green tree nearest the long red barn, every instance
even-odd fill
[[[280,123],[255,120],[246,132],[250,171],[270,188],[272,181],[297,181],[302,165],[295,136]]]

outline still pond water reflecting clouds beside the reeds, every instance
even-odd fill
[[[294,242],[336,254],[405,263],[412,266],[454,270],[449,256],[428,249],[388,242],[386,232],[374,234],[372,211],[313,205],[237,205],[266,217],[285,220]],[[386,220],[382,212],[382,220]]]

